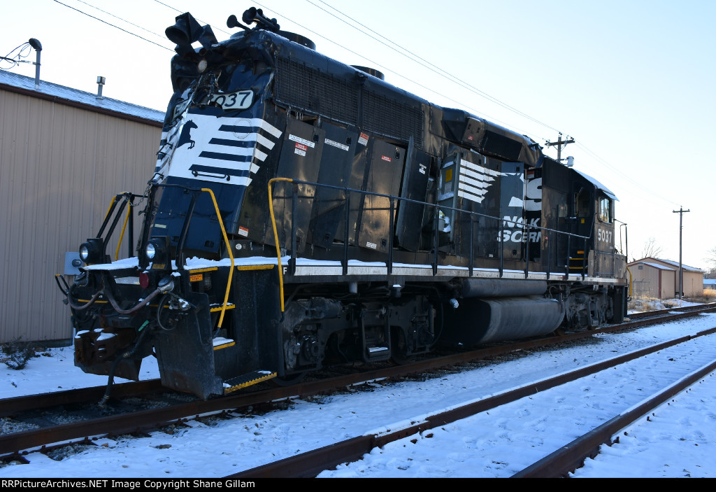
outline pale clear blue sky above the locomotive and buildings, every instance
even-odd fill
[[[619,197],[629,256],[653,237],[662,257],[678,261],[673,211],[683,206],[683,262],[707,266],[716,247],[716,1],[15,1],[2,8],[0,55],[37,38],[42,79],[96,92],[102,75],[105,97],[164,110],[173,55],[164,29],[190,11],[226,39],[235,31],[226,18],[250,6],[431,102],[541,144],[571,136],[562,156]],[[31,64],[11,70],[34,76]]]

